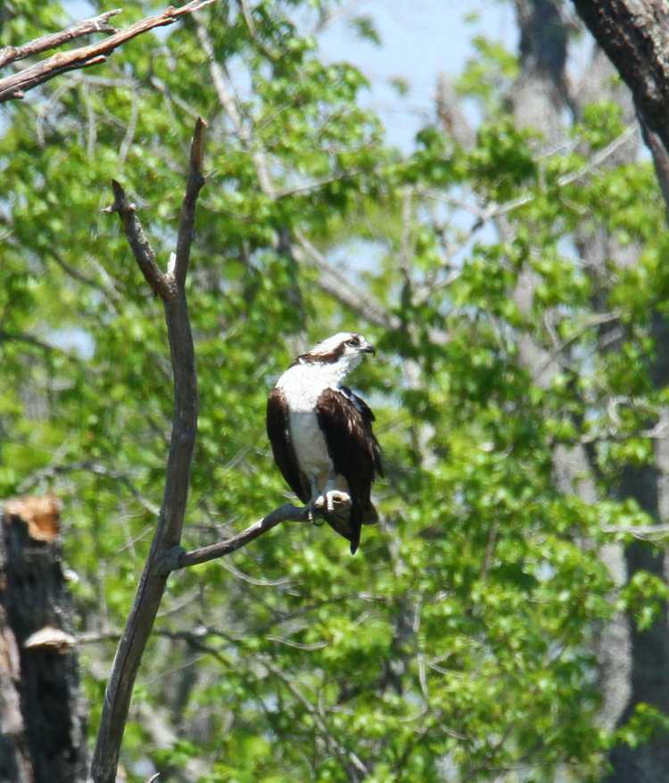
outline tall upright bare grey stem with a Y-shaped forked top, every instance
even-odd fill
[[[120,743],[128,719],[130,697],[153,622],[161,604],[168,573],[159,573],[156,565],[178,547],[186,513],[186,499],[197,431],[197,378],[193,335],[186,304],[186,273],[193,235],[195,204],[206,182],[202,174],[204,122],[195,123],[186,194],[181,210],[179,242],[174,260],[163,273],[123,188],[115,183],[114,203],[107,211],[119,212],[128,241],[139,268],[161,297],[168,328],[172,373],[174,376],[174,416],[169,441],[165,490],[161,513],[135,601],[120,639],[104,694],[95,750],[91,762],[93,783],[114,783],[119,762]]]

